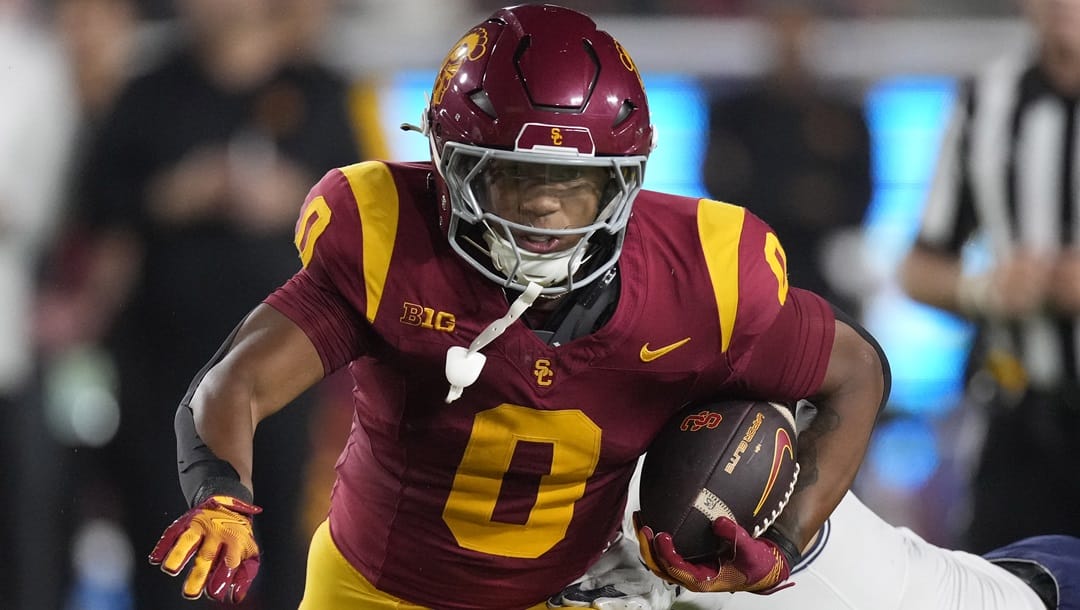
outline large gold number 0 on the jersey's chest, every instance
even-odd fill
[[[491,520],[521,442],[552,445],[549,474],[540,477],[525,524]],[[476,414],[469,446],[454,476],[443,520],[464,548],[504,557],[536,558],[566,537],[573,504],[599,461],[600,429],[577,409],[541,411],[499,405]]]

